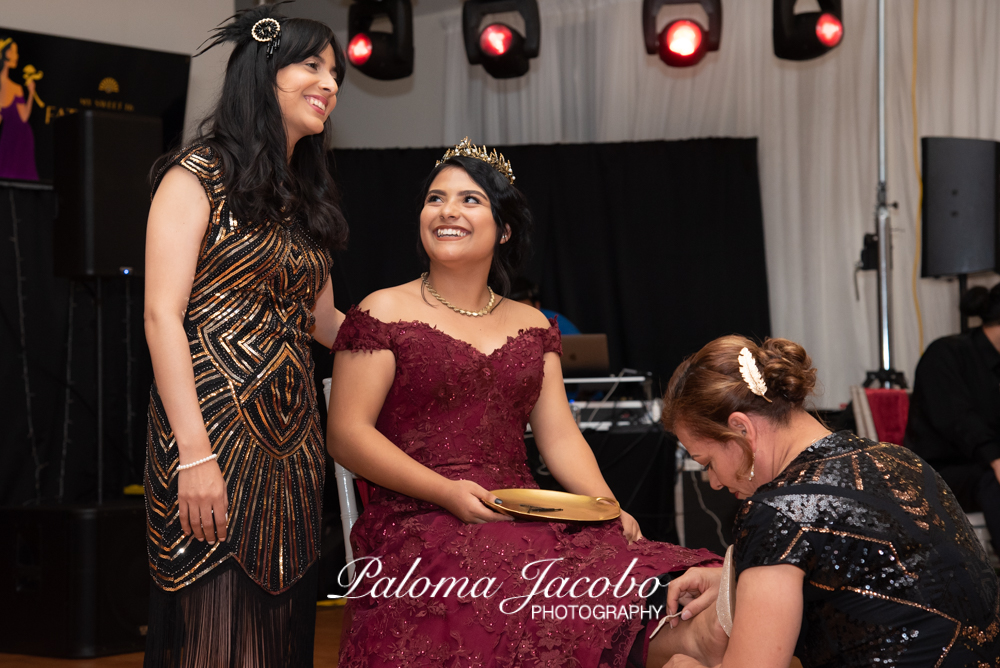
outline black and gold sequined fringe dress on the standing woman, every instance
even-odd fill
[[[229,538],[184,536],[177,442],[150,393],[146,666],[312,665],[324,443],[309,349],[331,259],[293,221],[231,213],[204,145],[160,171],[193,173],[211,207],[184,318],[205,428],[229,498]]]

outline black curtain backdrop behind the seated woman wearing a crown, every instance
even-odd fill
[[[733,332],[771,333],[756,139],[507,146],[535,219],[542,305],[608,335],[612,371],[654,374]],[[443,149],[335,153],[350,248],[341,310],[416,278],[419,188]]]

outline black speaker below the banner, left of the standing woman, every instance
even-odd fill
[[[162,121],[80,111],[56,118],[53,137],[56,275],[142,275],[149,170],[163,153]]]

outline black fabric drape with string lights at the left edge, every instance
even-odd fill
[[[97,497],[94,279],[73,284],[72,373],[66,424],[70,281],[55,275],[51,190],[0,185],[0,505],[85,503]],[[14,221],[17,243],[14,243]],[[18,299],[18,262],[22,300]],[[131,281],[126,322],[125,285]],[[152,365],[142,327],[143,281],[102,280],[104,303],[104,498],[142,483]],[[21,345],[21,320],[26,346]],[[126,331],[128,334],[126,334]],[[126,335],[131,336],[127,392]],[[27,362],[30,388],[24,383]],[[131,435],[127,435],[131,398]],[[29,433],[29,428],[31,433]],[[68,437],[68,438],[64,438]],[[65,441],[65,448],[64,448]],[[34,444],[34,453],[32,452]],[[37,456],[37,466],[36,466]],[[36,487],[37,469],[37,487]]]

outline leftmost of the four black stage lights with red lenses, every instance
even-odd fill
[[[392,32],[372,31],[378,17]],[[347,59],[373,79],[405,79],[413,74],[413,8],[410,0],[357,0],[347,12]]]

